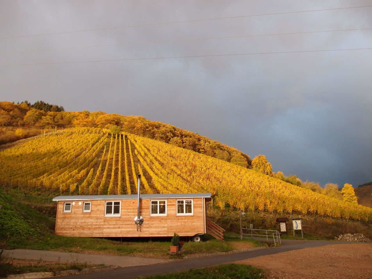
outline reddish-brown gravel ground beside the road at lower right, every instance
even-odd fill
[[[371,279],[372,244],[332,244],[236,263],[268,271],[268,279]]]

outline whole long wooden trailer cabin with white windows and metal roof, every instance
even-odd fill
[[[53,201],[56,235],[171,237],[177,232],[197,239],[207,232],[211,193],[58,196]]]

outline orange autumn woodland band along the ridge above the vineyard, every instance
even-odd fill
[[[105,112],[64,111],[63,107],[38,101],[31,105],[0,102],[0,144],[17,141],[47,130],[71,127],[110,128],[118,126],[121,131],[141,135],[170,143],[188,150],[228,161],[239,166],[249,167],[251,159],[247,154],[210,140],[197,133],[177,128],[158,121],[149,121],[142,116],[125,116]]]

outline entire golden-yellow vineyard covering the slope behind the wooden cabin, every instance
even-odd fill
[[[132,134],[71,128],[0,152],[0,183],[49,195],[211,192],[241,210],[367,221],[372,208],[339,201],[217,158]]]

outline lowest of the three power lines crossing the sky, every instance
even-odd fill
[[[126,59],[112,59],[112,60],[89,60],[89,61],[70,61],[70,62],[9,64],[9,65],[1,65],[1,66],[29,66],[29,65],[52,65],[52,64],[76,64],[76,63],[91,63],[91,62],[115,62],[115,61],[134,61],[134,60],[157,60],[157,59],[172,59],[172,58],[198,58],[198,57],[219,57],[219,56],[235,56],[235,55],[258,55],[258,54],[285,54],[285,53],[347,51],[347,50],[364,50],[364,49],[372,49],[372,47],[371,48],[321,49],[321,50],[305,50],[305,51],[250,52],[250,53],[237,53],[237,54],[209,54],[209,55],[173,56],[173,57],[126,58]]]

